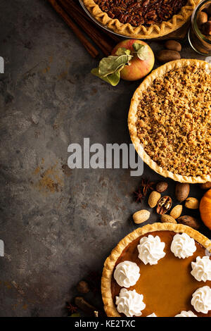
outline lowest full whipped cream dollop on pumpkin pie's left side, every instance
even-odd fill
[[[143,303],[143,295],[127,289],[121,289],[119,296],[116,296],[117,311],[124,313],[127,317],[141,316],[146,304]]]

